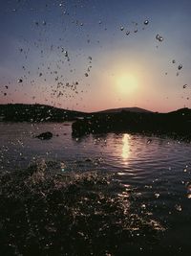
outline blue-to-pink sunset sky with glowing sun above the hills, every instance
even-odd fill
[[[191,107],[191,1],[1,0],[0,104]]]

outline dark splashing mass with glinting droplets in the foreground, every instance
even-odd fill
[[[113,175],[53,172],[53,165],[1,175],[1,255],[154,252],[163,227],[136,214]]]

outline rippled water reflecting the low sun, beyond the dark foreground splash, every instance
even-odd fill
[[[164,228],[159,244],[174,255],[189,255],[191,231],[191,147],[171,139],[132,134],[73,138],[71,123],[0,123],[1,172],[52,161],[62,172],[115,174],[138,215]],[[35,138],[53,132],[51,140]],[[121,254],[122,255],[122,254]]]

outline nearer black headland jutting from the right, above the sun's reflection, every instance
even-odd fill
[[[182,108],[169,113],[102,112],[73,124],[74,136],[106,132],[149,133],[191,140],[191,109]]]

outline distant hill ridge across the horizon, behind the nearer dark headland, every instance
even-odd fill
[[[27,104],[7,104],[0,105],[0,121],[4,122],[63,122],[74,121],[79,117],[102,116],[107,114],[151,114],[151,115],[169,115],[169,116],[185,116],[190,117],[191,109],[180,108],[168,113],[152,112],[150,110],[140,107],[119,107],[111,108],[96,112],[81,112],[76,110],[69,110],[58,108],[52,105],[27,105]],[[189,118],[190,119],[190,118]]]

